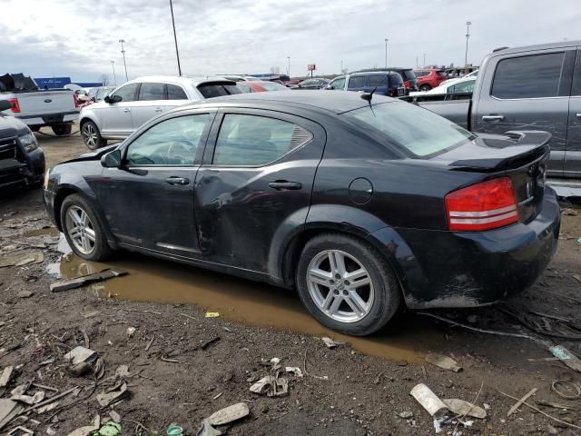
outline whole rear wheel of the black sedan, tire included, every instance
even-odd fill
[[[330,256],[343,257],[344,267],[335,270],[334,274]],[[321,271],[325,272],[324,278],[325,281],[329,279],[329,284],[325,281],[324,285],[320,284]],[[363,274],[359,280],[346,280],[355,278],[349,275],[355,271]],[[341,277],[335,275],[338,272]],[[367,279],[369,285],[357,284]],[[296,282],[300,300],[321,324],[354,336],[377,332],[389,322],[401,301],[399,282],[387,259],[368,243],[342,233],[324,233],[305,245],[300,254]]]

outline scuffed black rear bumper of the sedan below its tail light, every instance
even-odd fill
[[[522,292],[553,258],[559,229],[551,188],[527,224],[481,233],[394,229],[408,253],[396,268],[405,301],[411,309],[475,307]]]

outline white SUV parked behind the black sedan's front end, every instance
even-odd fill
[[[108,139],[124,139],[156,115],[184,104],[228,94],[240,94],[235,82],[222,77],[139,77],[122,84],[102,102],[81,110],[84,144],[92,150]]]

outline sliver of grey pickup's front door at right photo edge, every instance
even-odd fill
[[[569,124],[566,135],[566,177],[581,177],[581,47],[577,47],[571,99],[569,100]]]

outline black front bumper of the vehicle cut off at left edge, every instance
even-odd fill
[[[44,177],[44,152],[41,148],[30,152],[26,161],[0,161],[0,188],[39,183]]]

